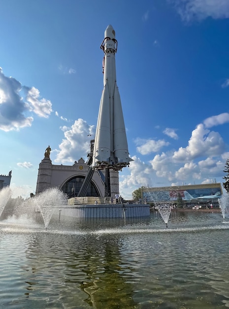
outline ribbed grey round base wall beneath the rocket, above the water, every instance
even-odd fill
[[[81,219],[138,218],[150,216],[147,204],[72,205],[56,208],[54,215]]]

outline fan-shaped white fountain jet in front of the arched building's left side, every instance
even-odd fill
[[[50,219],[54,211],[57,209],[59,211],[60,220],[61,209],[59,208],[64,207],[67,204],[67,197],[58,188],[49,188],[33,197],[32,204],[35,212],[40,211],[42,214],[45,230],[47,231]]]

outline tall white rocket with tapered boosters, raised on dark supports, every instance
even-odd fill
[[[122,104],[116,83],[115,54],[117,40],[109,25],[100,48],[103,58],[103,91],[100,100],[93,163],[95,169],[121,170],[130,164]]]

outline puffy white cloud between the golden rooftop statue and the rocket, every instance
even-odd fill
[[[67,129],[63,127],[65,138],[59,145],[60,151],[57,154],[55,162],[74,162],[82,155],[87,157],[90,150],[90,138],[88,134],[93,135],[95,126],[88,125],[83,119],[75,120],[74,124]]]

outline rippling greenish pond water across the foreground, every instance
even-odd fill
[[[1,218],[0,308],[229,308],[220,213],[68,221]]]

